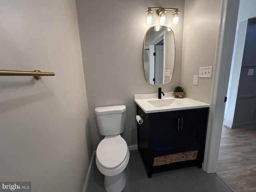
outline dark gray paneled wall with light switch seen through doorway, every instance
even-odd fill
[[[244,21],[245,22],[245,21]],[[232,127],[244,123],[256,124],[256,20],[248,23],[242,67],[238,84],[236,108]],[[248,75],[248,70],[253,69],[254,74]],[[237,125],[238,124],[238,125]]]

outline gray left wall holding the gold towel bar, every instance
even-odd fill
[[[0,77],[0,181],[81,192],[92,141],[74,0],[1,0],[0,68],[56,76]]]

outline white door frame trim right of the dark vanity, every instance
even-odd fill
[[[203,170],[207,173],[214,173],[217,169],[225,110],[224,97],[228,90],[239,2],[240,0],[222,0],[221,4],[203,164]]]

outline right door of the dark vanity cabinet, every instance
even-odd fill
[[[203,110],[180,112],[180,127],[175,132],[177,149],[200,147],[203,114]]]

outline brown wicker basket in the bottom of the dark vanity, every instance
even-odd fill
[[[198,150],[194,150],[194,151],[186,151],[181,153],[154,157],[153,166],[165,165],[165,164],[181,162],[181,161],[195,160],[197,157],[197,152]]]

